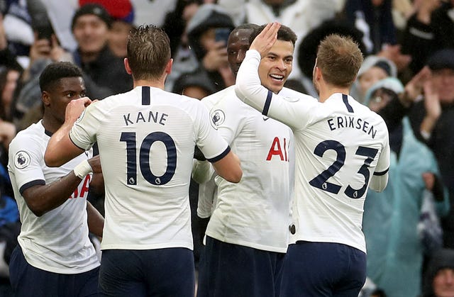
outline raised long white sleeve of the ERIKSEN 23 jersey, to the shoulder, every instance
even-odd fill
[[[304,128],[311,121],[312,108],[319,103],[311,96],[296,91],[292,93],[292,97],[273,94],[260,84],[259,64],[259,52],[248,50],[236,78],[235,91],[238,98],[264,116],[274,118],[294,130]]]

